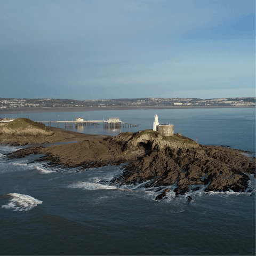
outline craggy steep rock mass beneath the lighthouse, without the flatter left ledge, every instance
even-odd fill
[[[124,135],[119,134],[114,140],[120,137]],[[207,185],[205,191],[245,191],[247,174],[255,174],[255,158],[246,157],[241,150],[203,146],[177,135],[170,137],[171,141],[163,140],[152,132],[127,139],[124,148],[134,151],[144,147],[145,154],[127,164],[124,175],[114,182],[150,181],[147,186],[153,187],[177,182],[175,193],[179,195],[189,191],[189,185]]]

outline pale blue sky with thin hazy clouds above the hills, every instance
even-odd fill
[[[255,97],[255,0],[0,3],[0,98]]]

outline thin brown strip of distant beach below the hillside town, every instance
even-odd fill
[[[54,113],[54,112],[87,112],[87,111],[109,111],[109,110],[135,110],[135,109],[211,109],[211,108],[255,108],[255,106],[134,106],[134,107],[29,107],[29,108],[4,108],[0,109],[2,114],[22,113]]]

